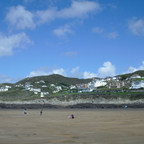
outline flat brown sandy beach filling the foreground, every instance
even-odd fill
[[[144,144],[144,109],[27,112],[0,109],[0,144]]]

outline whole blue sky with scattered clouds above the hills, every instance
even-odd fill
[[[144,70],[144,0],[0,1],[0,83]]]

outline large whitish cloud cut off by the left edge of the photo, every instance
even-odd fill
[[[13,55],[15,48],[32,43],[25,33],[18,33],[9,37],[0,35],[0,57]]]

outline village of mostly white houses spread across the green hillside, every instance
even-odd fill
[[[71,84],[69,86],[65,86],[62,84],[59,85],[57,83],[51,83],[48,85],[44,80],[35,81],[34,84],[31,84],[31,82],[26,81],[24,84],[17,83],[14,84],[13,86],[3,85],[0,87],[0,92],[12,91],[13,88],[19,88],[21,91],[30,91],[33,92],[34,95],[39,95],[40,97],[60,92],[65,93],[93,92],[101,88],[107,88],[107,89],[125,88],[129,90],[134,89],[137,90],[137,89],[144,89],[144,77],[141,77],[138,74],[133,74],[128,78],[124,78],[122,76],[93,78],[88,83],[80,83],[75,85]]]

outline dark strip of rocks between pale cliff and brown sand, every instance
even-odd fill
[[[121,108],[144,108],[144,103],[135,104],[93,104],[80,103],[74,105],[53,104],[5,104],[0,103],[0,109],[121,109]]]

